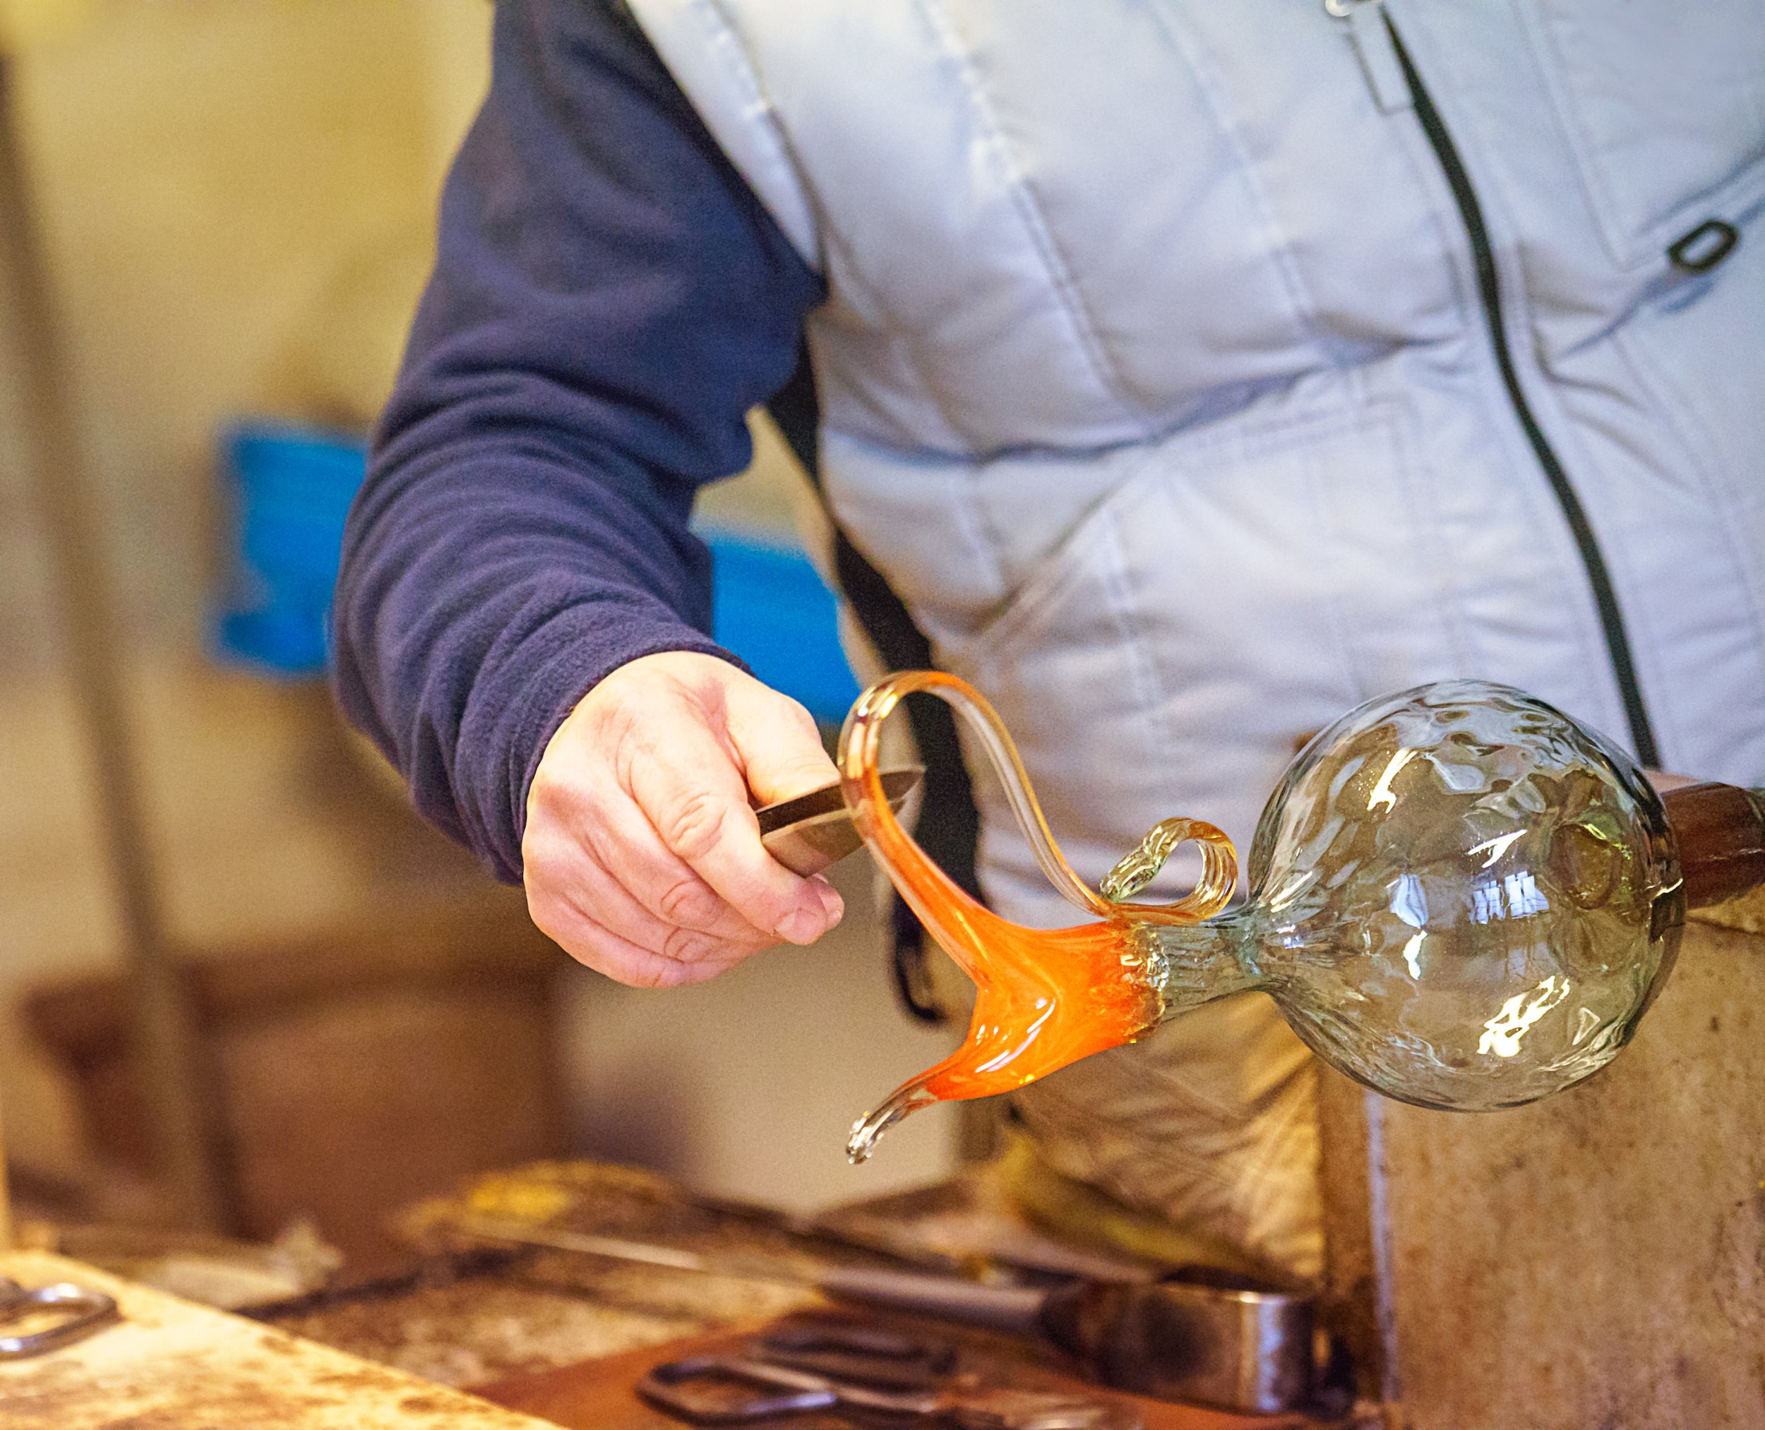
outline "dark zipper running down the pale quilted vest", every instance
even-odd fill
[[[1514,355],[1507,346],[1507,328],[1502,323],[1502,290],[1495,270],[1495,249],[1490,244],[1490,231],[1483,222],[1483,205],[1477,203],[1477,192],[1470,187],[1470,175],[1465,171],[1453,136],[1440,120],[1440,111],[1433,106],[1428,87],[1423,85],[1421,74],[1416,72],[1408,49],[1403,48],[1398,26],[1391,23],[1391,16],[1386,14],[1380,0],[1324,0],[1324,9],[1338,19],[1359,21],[1363,18],[1361,12],[1370,12],[1373,7],[1378,7],[1380,19],[1384,19],[1386,34],[1391,37],[1398,65],[1403,71],[1403,83],[1408,87],[1408,97],[1416,108],[1416,118],[1428,138],[1430,148],[1433,148],[1435,157],[1440,161],[1447,187],[1453,191],[1453,201],[1458,205],[1460,219],[1470,238],[1470,252],[1477,268],[1477,293],[1483,298],[1483,316],[1490,330],[1490,344],[1495,348],[1495,365],[1500,369],[1502,387],[1507,388],[1514,417],[1520,420],[1520,427],[1527,434],[1539,466],[1544,470],[1544,478],[1550,482],[1557,505],[1569,524],[1569,533],[1574,537],[1574,546],[1581,553],[1581,565],[1587,570],[1587,583],[1592,588],[1594,606],[1599,611],[1599,625],[1606,637],[1606,653],[1611,659],[1611,674],[1617,680],[1619,696],[1624,701],[1624,715],[1629,720],[1631,743],[1638,761],[1645,768],[1659,770],[1661,750],[1656,745],[1649,710],[1643,704],[1641,685],[1636,678],[1636,659],[1631,651],[1631,637],[1624,628],[1624,613],[1619,607],[1619,595],[1611,586],[1606,556],[1599,549],[1599,538],[1587,519],[1581,498],[1576,496],[1574,485],[1569,482],[1569,473],[1564,471],[1555,450],[1551,450],[1550,440],[1544,436],[1544,429],[1539,425],[1530,403],[1527,403],[1525,390],[1520,387]],[[1354,28],[1356,42],[1363,46],[1363,64],[1377,72],[1377,62],[1364,53],[1366,26],[1357,23]],[[1387,106],[1382,102],[1380,108]]]

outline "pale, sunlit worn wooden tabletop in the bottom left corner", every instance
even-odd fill
[[[0,1275],[106,1291],[124,1313],[76,1345],[0,1363],[0,1430],[542,1430],[530,1416],[62,1257],[0,1255]]]

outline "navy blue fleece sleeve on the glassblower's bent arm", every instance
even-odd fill
[[[724,655],[694,491],[747,466],[819,298],[616,0],[498,4],[334,639],[348,715],[499,877],[597,680]]]

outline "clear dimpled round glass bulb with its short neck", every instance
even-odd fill
[[[1684,916],[1666,814],[1636,766],[1486,681],[1389,696],[1318,734],[1269,800],[1248,872],[1246,906],[1158,932],[1172,982],[1223,941],[1327,1061],[1460,1110],[1532,1102],[1611,1061]],[[1193,1001],[1172,992],[1170,1012]]]

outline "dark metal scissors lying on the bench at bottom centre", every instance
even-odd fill
[[[955,1349],[863,1326],[812,1322],[734,1356],[658,1365],[637,1393],[688,1425],[755,1425],[800,1414],[923,1419],[957,1430],[1140,1430],[1115,1402],[1018,1391],[953,1377]]]

